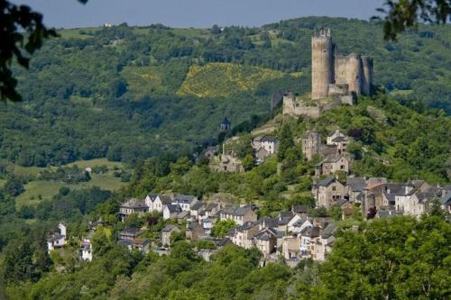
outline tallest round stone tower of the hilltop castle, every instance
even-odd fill
[[[315,34],[311,41],[312,99],[325,98],[329,84],[334,80],[333,42],[329,30]]]

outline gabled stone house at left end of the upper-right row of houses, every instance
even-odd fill
[[[312,186],[312,194],[318,207],[330,208],[347,196],[347,189],[336,177],[327,177]]]

